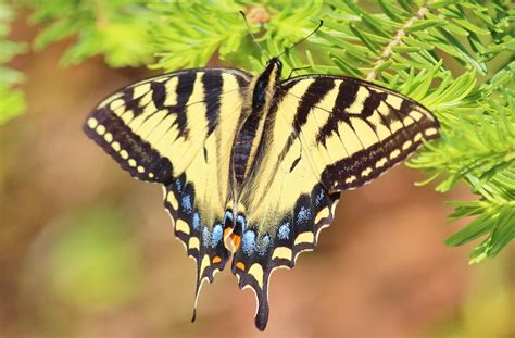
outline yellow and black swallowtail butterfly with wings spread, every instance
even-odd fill
[[[438,137],[422,104],[361,79],[281,80],[272,58],[254,77],[192,68],[114,92],[87,117],[86,134],[125,171],[164,187],[175,235],[203,281],[229,258],[239,287],[268,321],[272,272],[293,267],[354,189]],[[194,318],[194,314],[193,314]]]

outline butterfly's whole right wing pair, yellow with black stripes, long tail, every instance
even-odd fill
[[[269,111],[259,164],[240,196],[246,215],[233,272],[258,297],[256,326],[268,316],[274,268],[292,267],[329,225],[339,192],[405,159],[438,122],[420,104],[348,77],[302,76],[281,84]]]

